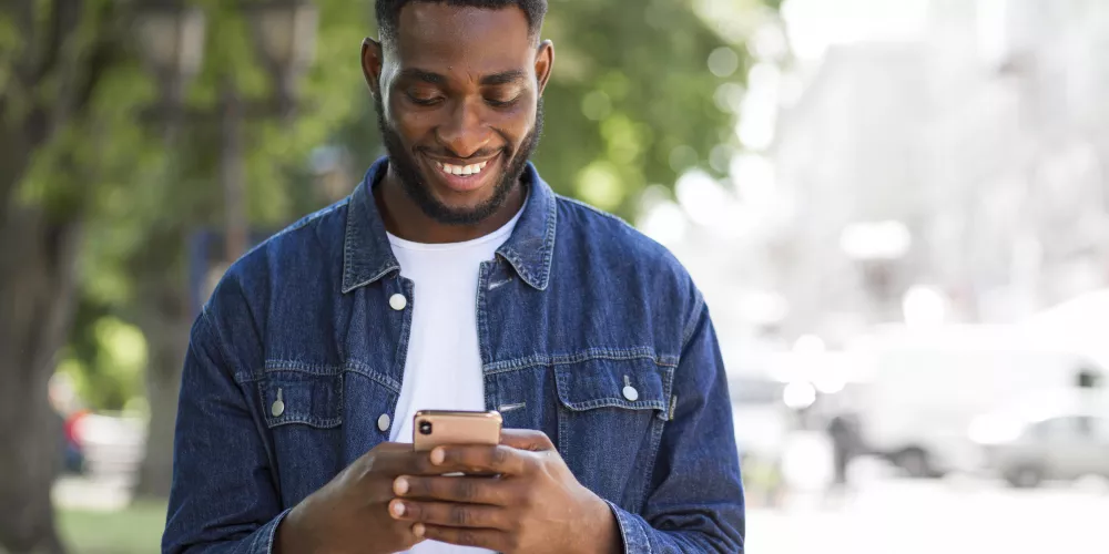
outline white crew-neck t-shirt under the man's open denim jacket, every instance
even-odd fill
[[[419,410],[485,410],[485,379],[478,350],[478,271],[512,234],[520,213],[484,237],[451,244],[420,244],[389,235],[400,275],[414,283],[415,301],[405,378],[389,440],[411,442]],[[409,299],[411,300],[411,299]],[[411,554],[485,554],[484,548],[435,541]]]

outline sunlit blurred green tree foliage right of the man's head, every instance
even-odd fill
[[[756,20],[762,4],[736,13]],[[558,192],[632,218],[649,184],[672,187],[694,166],[728,171],[737,148],[735,116],[718,101],[745,75],[746,50],[718,32],[705,0],[552,1],[543,33],[554,42],[545,94],[546,135],[537,153]],[[734,59],[714,74],[713,52]],[[726,51],[726,52],[725,52]]]

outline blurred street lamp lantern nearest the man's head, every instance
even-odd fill
[[[255,50],[276,84],[278,113],[288,117],[296,104],[296,84],[316,54],[316,6],[304,0],[275,0],[247,9]]]

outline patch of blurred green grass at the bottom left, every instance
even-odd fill
[[[141,501],[112,512],[63,509],[58,526],[72,554],[153,554],[161,552],[165,503]]]

